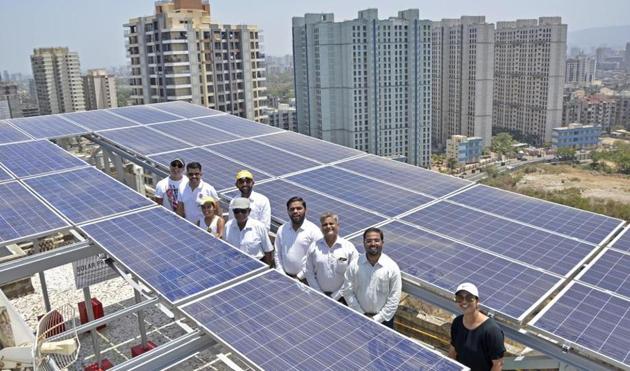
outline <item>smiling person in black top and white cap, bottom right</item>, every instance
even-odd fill
[[[502,370],[503,330],[494,319],[479,311],[477,286],[470,282],[457,286],[455,301],[463,314],[451,324],[449,356],[473,371]]]

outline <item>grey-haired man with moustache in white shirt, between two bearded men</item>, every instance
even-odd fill
[[[305,276],[308,285],[345,304],[341,296],[344,274],[359,253],[354,245],[339,237],[339,217],[324,213],[319,218],[324,237],[315,241],[306,254]]]

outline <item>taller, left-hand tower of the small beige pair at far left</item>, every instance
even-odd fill
[[[68,48],[39,48],[31,55],[42,115],[85,110],[79,54]]]

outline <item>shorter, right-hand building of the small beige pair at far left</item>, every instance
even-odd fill
[[[87,110],[118,107],[116,78],[103,69],[88,70],[83,76]]]

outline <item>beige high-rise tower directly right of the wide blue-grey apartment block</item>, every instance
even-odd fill
[[[433,22],[433,146],[453,135],[492,137],[494,25],[485,17]]]

